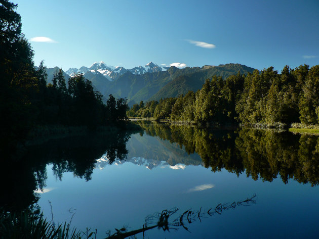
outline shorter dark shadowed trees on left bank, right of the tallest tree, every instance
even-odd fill
[[[94,128],[98,125],[112,125],[127,120],[126,99],[115,99],[109,95],[103,104],[103,95],[94,90],[92,82],[83,74],[76,74],[67,83],[62,69],[54,74],[52,84],[47,84],[46,67],[43,62],[35,72],[39,82],[44,82],[42,90],[42,124],[86,125]]]

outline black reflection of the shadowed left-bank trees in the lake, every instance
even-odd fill
[[[47,180],[47,164],[62,180],[65,172],[90,180],[96,159],[106,154],[109,163],[125,159],[126,142],[139,131],[116,130],[108,134],[92,134],[50,140],[41,146],[28,147],[19,160],[2,160],[0,166],[0,208],[20,211],[38,201],[37,190],[43,190]],[[7,157],[12,157],[8,155]]]

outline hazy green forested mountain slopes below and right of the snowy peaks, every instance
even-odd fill
[[[200,89],[205,79],[213,75],[227,78],[240,71],[242,74],[253,72],[254,69],[241,64],[226,64],[219,66],[186,67],[183,69],[170,67],[167,71],[134,75],[131,72],[119,76],[105,88],[103,94],[113,94],[116,97],[126,97],[129,103],[160,100],[161,98],[177,97],[188,90]],[[133,104],[132,104],[133,105]]]

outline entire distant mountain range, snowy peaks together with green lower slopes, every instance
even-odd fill
[[[48,82],[52,82],[53,74],[59,68],[48,68]],[[200,89],[207,78],[213,75],[224,79],[230,75],[247,74],[255,69],[241,64],[225,64],[219,66],[163,67],[150,62],[145,66],[132,69],[106,65],[104,62],[95,62],[91,67],[70,68],[64,72],[64,77],[74,76],[76,73],[93,82],[95,89],[99,90],[104,98],[109,94],[115,98],[127,98],[132,106],[140,101],[160,100],[161,98],[177,97],[189,90]]]

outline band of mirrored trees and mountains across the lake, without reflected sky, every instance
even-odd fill
[[[47,164],[53,165],[59,180],[63,173],[72,172],[88,181],[96,167],[129,161],[149,169],[169,166],[182,170],[185,165],[204,165],[213,172],[226,169],[236,175],[246,173],[254,180],[272,181],[280,176],[284,183],[289,179],[312,186],[319,183],[318,136],[136,123],[142,131],[51,140],[29,147],[19,161],[1,161],[1,190],[5,193],[0,197],[0,206],[19,210],[36,203],[39,194],[48,190]],[[137,132],[135,140],[128,142]],[[212,185],[192,190],[207,186]]]

